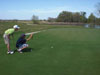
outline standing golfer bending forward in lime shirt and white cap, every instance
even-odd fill
[[[11,37],[11,35],[13,36],[13,33],[15,31],[19,30],[19,28],[20,27],[18,25],[14,25],[13,28],[10,28],[10,29],[8,29],[4,32],[3,38],[4,38],[4,41],[5,41],[5,44],[7,45],[7,49],[8,49],[7,54],[13,54],[14,53],[14,51],[12,51],[10,49],[10,37]]]

